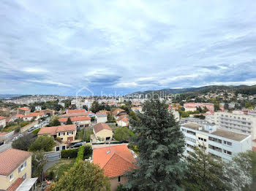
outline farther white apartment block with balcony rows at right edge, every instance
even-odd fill
[[[238,133],[252,135],[256,139],[256,116],[241,111],[215,112],[214,121],[217,128],[233,130]]]

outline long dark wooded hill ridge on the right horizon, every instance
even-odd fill
[[[195,93],[195,94],[203,94],[203,93],[217,93],[222,92],[224,90],[234,90],[236,92],[239,92],[240,90],[246,93],[254,93],[254,88],[256,89],[256,85],[254,86],[247,86],[247,85],[238,85],[238,86],[226,86],[226,85],[209,85],[209,86],[203,86],[203,87],[189,87],[189,88],[166,88],[161,90],[147,90],[147,91],[138,91],[135,93],[130,93],[129,95],[135,95],[135,94],[158,94],[158,95],[167,95],[167,94],[176,94],[176,93]]]

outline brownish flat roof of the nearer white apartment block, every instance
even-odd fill
[[[249,136],[249,135],[236,133],[236,132],[230,131],[230,130],[223,130],[223,129],[219,129],[219,128],[217,128],[216,131],[209,133],[208,130],[205,130],[204,125],[200,125],[200,124],[196,124],[196,123],[192,123],[192,122],[181,125],[181,126],[184,128],[191,128],[193,130],[198,130],[203,133],[208,133],[209,135],[221,136],[223,138],[231,139],[234,141],[242,141],[242,140],[246,139],[246,137]],[[199,130],[199,128],[202,128],[202,130]]]

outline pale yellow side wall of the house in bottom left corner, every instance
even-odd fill
[[[9,174],[8,176],[0,176],[0,190],[7,190],[8,187],[10,187],[18,178],[21,178],[24,174],[26,174],[26,179],[30,179],[31,178],[31,159],[32,157],[30,156],[27,160],[23,161],[23,163],[25,163],[26,161],[26,167],[23,168],[23,170],[20,171],[20,173],[18,172],[18,168],[23,163],[20,163],[20,165],[18,165],[18,168],[12,171],[11,173],[13,174],[12,181],[10,181],[11,174]]]

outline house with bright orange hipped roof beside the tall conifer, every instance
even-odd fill
[[[103,169],[108,176],[111,190],[116,190],[119,184],[127,184],[128,178],[124,176],[126,171],[135,168],[136,155],[130,151],[127,145],[116,145],[93,150],[92,161]]]

